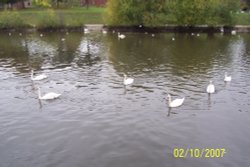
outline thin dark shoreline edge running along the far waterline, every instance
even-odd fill
[[[87,28],[90,31],[108,32],[138,32],[138,33],[231,33],[233,30],[237,33],[250,33],[250,25],[235,25],[235,26],[179,26],[179,25],[165,25],[158,27],[147,26],[107,26],[104,24],[85,24],[77,27],[44,27],[44,28],[1,28],[0,32],[84,32]]]

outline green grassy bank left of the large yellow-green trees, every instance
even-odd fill
[[[59,28],[102,24],[104,8],[24,9],[0,11],[0,28]]]

